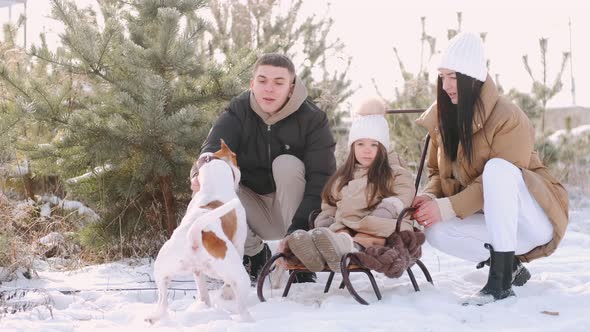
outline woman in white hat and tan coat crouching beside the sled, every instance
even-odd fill
[[[533,151],[526,114],[498,94],[478,35],[450,41],[436,103],[417,123],[432,137],[429,182],[413,202],[427,241],[490,265],[486,285],[468,302],[513,296],[511,286],[530,278],[520,262],[552,254],[563,237],[568,198]]]

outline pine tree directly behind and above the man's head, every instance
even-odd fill
[[[207,44],[209,56],[223,58],[224,66],[247,82],[258,55],[286,54],[294,60],[309,97],[336,125],[340,116],[336,108],[353,91],[351,81],[346,78],[348,67],[332,72],[327,60],[338,58],[350,66],[350,58],[342,55],[344,45],[339,39],[330,41],[332,19],[314,15],[299,22],[302,3],[302,0],[288,5],[279,0],[244,3],[212,0],[210,9],[214,20],[209,27],[212,36]]]

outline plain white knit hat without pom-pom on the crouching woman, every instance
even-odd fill
[[[444,51],[438,69],[450,69],[485,82],[488,76],[483,42],[479,35],[461,32]]]

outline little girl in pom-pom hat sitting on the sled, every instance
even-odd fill
[[[321,271],[326,263],[339,271],[344,254],[384,245],[395,230],[398,214],[415,195],[411,174],[397,158],[388,158],[384,103],[367,100],[357,114],[348,138],[348,158],[324,187],[316,228],[297,230],[286,238],[293,254],[310,271]],[[401,230],[413,230],[412,221],[404,220]]]

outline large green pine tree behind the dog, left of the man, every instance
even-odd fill
[[[46,160],[66,179],[91,175],[69,181],[68,190],[107,225],[148,214],[172,233],[212,113],[237,93],[216,84],[200,48],[206,22],[197,11],[204,5],[105,0],[97,13],[52,0],[52,15],[65,26],[61,47],[31,53],[69,79],[5,76],[20,88],[21,108],[60,133],[41,151]]]

